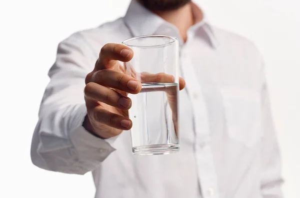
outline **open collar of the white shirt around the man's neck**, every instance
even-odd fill
[[[205,13],[195,3],[192,3],[192,12],[195,24],[192,25],[188,31],[191,32],[193,36],[196,35],[198,30],[204,31],[212,47],[216,47],[217,40],[212,27],[207,23]],[[136,0],[131,0],[124,16],[124,22],[129,27],[133,36],[155,34],[157,29],[159,29],[162,25],[166,25],[174,29],[175,32],[178,32],[174,25],[146,9]]]

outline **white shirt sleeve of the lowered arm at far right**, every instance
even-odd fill
[[[262,64],[263,65],[263,64]],[[263,198],[282,198],[281,157],[271,116],[270,100],[265,81],[264,67],[262,72],[262,150],[261,150],[261,195]]]

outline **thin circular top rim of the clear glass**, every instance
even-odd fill
[[[160,44],[160,45],[130,45],[130,44],[126,44],[126,42],[131,41],[131,40],[137,40],[140,38],[168,38],[171,39],[170,42],[168,43],[164,43],[164,44]],[[142,36],[135,36],[132,38],[128,38],[126,40],[123,40],[121,42],[121,44],[127,46],[127,47],[136,47],[136,48],[158,48],[158,47],[164,47],[164,46],[168,46],[174,42],[178,42],[178,39],[176,37],[172,37],[172,36],[165,36],[165,35],[142,35]]]

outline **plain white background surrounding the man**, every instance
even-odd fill
[[[283,158],[286,198],[300,188],[300,12],[297,0],[195,0],[211,23],[253,40],[264,55]],[[30,141],[57,43],[122,16],[129,0],[0,1],[0,198],[92,198],[90,174],[40,170]]]

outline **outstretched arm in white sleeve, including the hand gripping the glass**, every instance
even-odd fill
[[[132,50],[107,43],[95,64],[90,54],[97,56],[79,33],[58,46],[31,144],[32,162],[40,168],[73,174],[92,171],[114,151],[108,141],[132,126],[126,94],[137,94],[141,83],[126,75],[119,63],[129,61]],[[163,80],[167,75],[157,77]],[[182,78],[179,83],[183,89]]]

